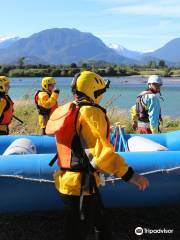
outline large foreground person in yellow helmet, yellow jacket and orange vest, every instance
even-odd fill
[[[69,169],[61,167],[54,174],[56,189],[65,205],[63,232],[65,240],[87,239],[90,225],[94,228],[95,239],[112,239],[97,187],[101,183],[100,172],[114,173],[125,182],[135,184],[140,190],[146,189],[149,185],[148,180],[135,173],[125,159],[115,153],[114,147],[110,144],[109,120],[106,110],[99,105],[108,87],[109,82],[92,71],[83,71],[76,75],[72,82],[72,92],[74,104],[80,108],[75,118],[75,135],[71,144],[63,145],[58,142],[60,139],[68,142],[67,134],[72,132],[73,125],[71,129],[67,127],[64,130],[64,135],[62,131],[59,133],[56,131],[59,165],[71,165]],[[63,106],[59,109],[62,108]],[[55,119],[60,120],[59,124],[67,123],[57,115],[54,117],[57,110],[48,121],[47,134],[52,133],[50,128],[56,124]],[[64,111],[63,116],[70,114]],[[49,124],[51,120],[52,125]],[[62,124],[62,127],[65,127],[64,123]],[[62,151],[59,151],[60,147]],[[80,164],[82,167],[75,167]]]

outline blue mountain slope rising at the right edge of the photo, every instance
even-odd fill
[[[178,63],[180,62],[180,38],[173,39],[154,52],[143,54],[142,57],[154,57],[167,62]]]

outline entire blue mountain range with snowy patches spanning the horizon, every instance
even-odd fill
[[[25,64],[70,64],[105,61],[115,64],[146,64],[151,60],[179,65],[180,38],[149,53],[129,50],[119,44],[106,46],[91,33],[77,29],[53,28],[27,38],[0,38],[0,64],[17,64],[25,57]]]

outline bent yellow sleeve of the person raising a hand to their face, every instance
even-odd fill
[[[59,94],[56,92],[52,92],[50,97],[46,92],[40,92],[38,94],[38,105],[50,109],[56,104],[58,96]]]

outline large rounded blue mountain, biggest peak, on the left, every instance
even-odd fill
[[[0,49],[0,63],[17,63],[21,57],[34,58],[38,63],[49,64],[87,60],[135,63],[133,59],[118,55],[91,33],[68,28],[47,29],[28,38],[21,38],[8,48]]]

